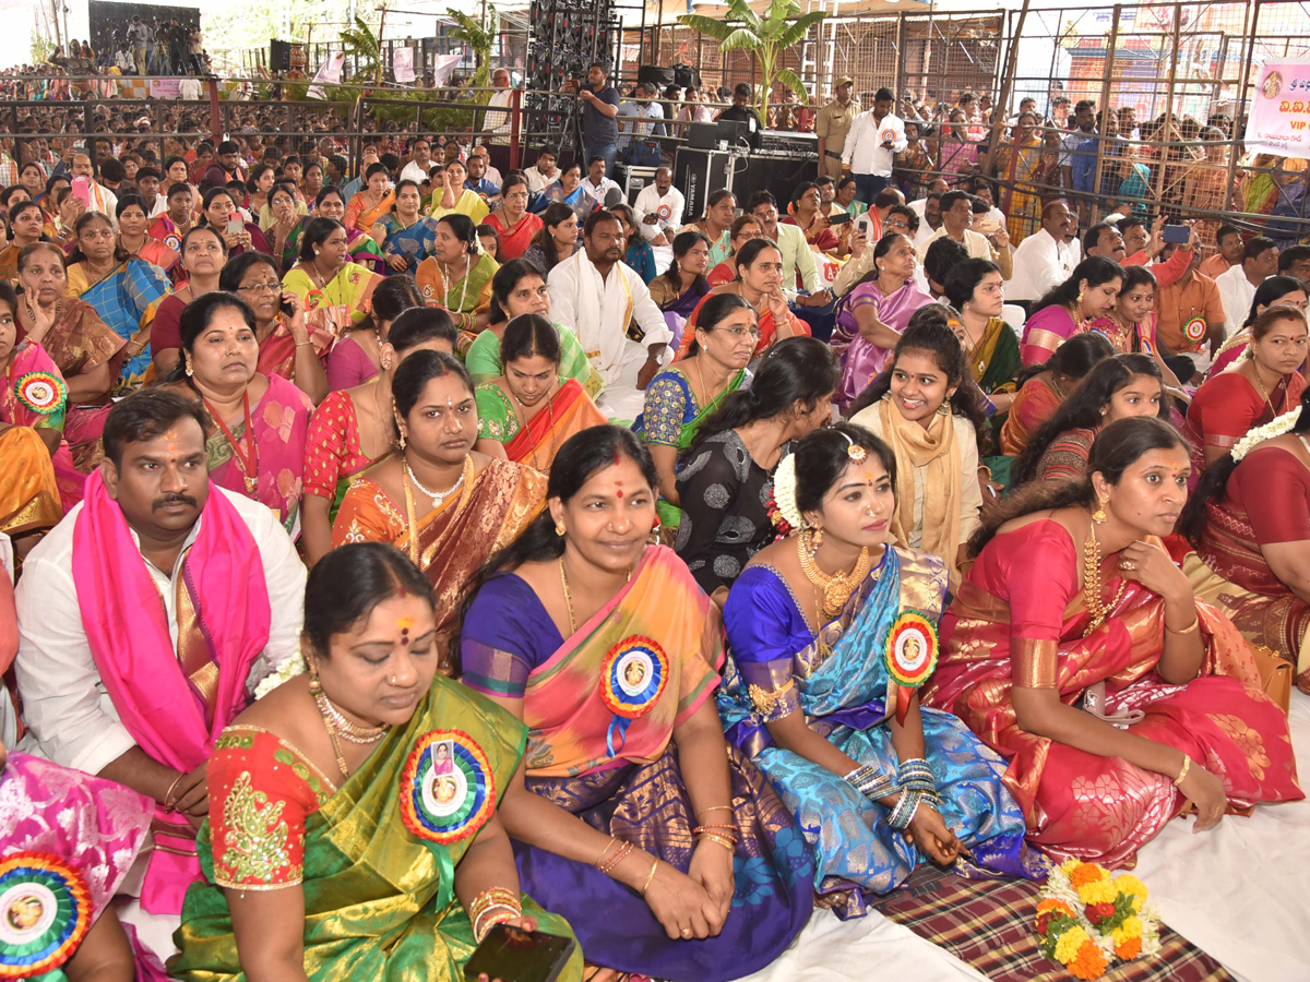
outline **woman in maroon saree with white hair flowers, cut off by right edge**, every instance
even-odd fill
[[[1196,594],[1310,693],[1310,390],[1212,464],[1170,550]]]

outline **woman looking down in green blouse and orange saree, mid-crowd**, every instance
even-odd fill
[[[608,422],[576,378],[559,377],[559,331],[541,314],[506,325],[504,374],[474,390],[482,453],[548,474],[565,440]]]

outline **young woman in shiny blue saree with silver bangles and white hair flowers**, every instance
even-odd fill
[[[891,538],[891,448],[850,423],[816,429],[779,465],[774,499],[796,534],[756,554],[728,594],[718,704],[728,742],[806,830],[815,889],[849,917],[924,859],[1024,873],[1005,761],[918,707],[946,568]]]

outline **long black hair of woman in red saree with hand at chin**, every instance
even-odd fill
[[[1096,491],[1091,475],[1100,474],[1111,484],[1117,484],[1124,471],[1151,450],[1187,448],[1187,440],[1169,423],[1154,416],[1132,416],[1111,423],[1096,435],[1087,457],[1087,477],[1082,481],[1036,481],[1005,499],[990,518],[985,518],[969,538],[969,555],[977,556],[992,541],[997,530],[1024,515],[1096,505]]]

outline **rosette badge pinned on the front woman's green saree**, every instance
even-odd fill
[[[495,809],[495,775],[482,748],[458,729],[434,729],[414,744],[401,774],[401,818],[443,846],[473,835]]]

